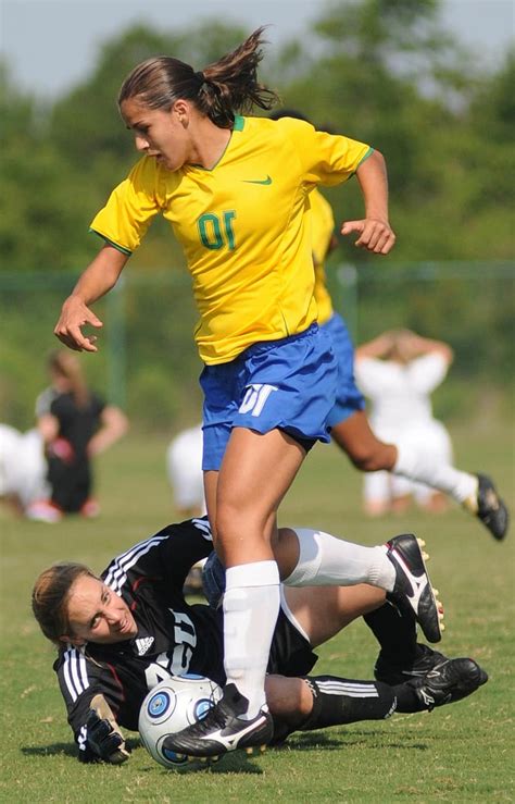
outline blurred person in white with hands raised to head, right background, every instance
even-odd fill
[[[402,449],[428,454],[435,463],[452,466],[451,437],[434,418],[430,394],[444,380],[453,360],[450,346],[391,330],[355,350],[356,382],[372,401],[369,420],[376,435]],[[401,512],[411,498],[426,510],[441,511],[447,499],[425,485],[379,471],[365,474],[364,508],[370,516]]]

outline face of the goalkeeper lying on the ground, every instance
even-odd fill
[[[124,642],[138,633],[125,601],[91,576],[79,576],[74,581],[68,595],[67,619],[72,633],[63,639],[75,645]]]

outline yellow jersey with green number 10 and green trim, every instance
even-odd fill
[[[316,320],[309,194],[344,182],[369,151],[300,120],[237,117],[212,170],[167,171],[143,157],[91,230],[130,253],[163,214],[191,272],[200,357],[228,362]]]

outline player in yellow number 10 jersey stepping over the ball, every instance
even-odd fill
[[[227,568],[224,697],[205,720],[174,735],[173,749],[192,755],[272,737],[264,676],[279,610],[278,566],[291,585],[315,576],[330,584],[373,577],[416,609],[429,641],[440,639],[416,540],[400,562],[397,548],[370,553],[332,540],[326,551],[326,534],[306,532],[301,544],[276,525],[307,450],[329,441],[326,417],[336,398],[336,359],[313,299],[310,191],[355,173],[365,214],[342,231],[357,233],[357,245],[376,253],[388,253],[395,238],[380,153],[303,121],[237,113],[269,109],[276,97],[256,78],[262,33],[203,72],[159,57],[125,79],[120,110],[141,159],[95,218],[103,247],[55,326],[71,348],[96,351],[80,329],[102,325],[89,306],[113,287],[151,220],[161,213],[169,221],[200,312],[205,498]]]

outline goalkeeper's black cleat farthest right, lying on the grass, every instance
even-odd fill
[[[488,673],[474,659],[445,659],[425,678],[409,681],[422,708],[432,712],[437,706],[452,704],[486,684]]]

